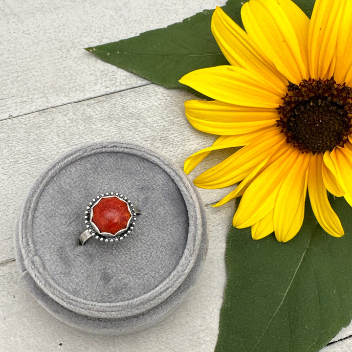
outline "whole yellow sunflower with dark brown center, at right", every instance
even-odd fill
[[[185,103],[214,144],[185,161],[190,173],[211,151],[242,147],[199,175],[201,188],[239,183],[216,205],[242,196],[233,218],[252,238],[292,239],[305,199],[330,235],[344,235],[328,192],[352,205],[352,1],[317,0],[311,19],[290,0],[243,4],[245,31],[218,7],[212,33],[230,65],[180,82],[210,97]]]

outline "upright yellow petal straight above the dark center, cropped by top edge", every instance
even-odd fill
[[[308,33],[309,71],[312,78],[330,78],[328,71],[330,74],[332,70],[331,62],[335,54],[339,26],[346,1],[315,1]],[[348,21],[351,19],[348,18]]]

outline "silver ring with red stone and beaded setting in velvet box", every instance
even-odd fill
[[[137,211],[127,197],[115,192],[103,193],[87,206],[87,230],[80,235],[79,243],[83,245],[91,237],[101,242],[121,241],[132,232],[136,215]]]

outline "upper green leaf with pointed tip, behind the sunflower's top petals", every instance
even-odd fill
[[[310,16],[314,1],[295,1]],[[229,0],[222,9],[239,25],[242,1]],[[214,10],[204,10],[180,23],[144,32],[119,42],[86,48],[101,60],[166,88],[183,88],[178,80],[198,68],[228,65],[210,29]],[[199,95],[199,93],[196,93]]]

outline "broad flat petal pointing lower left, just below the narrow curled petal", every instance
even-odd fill
[[[233,185],[247,176],[265,158],[274,154],[283,140],[283,133],[277,128],[266,132],[261,138],[200,174],[194,183],[200,188],[223,188]]]

